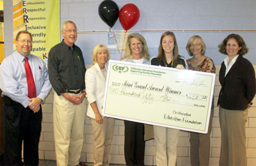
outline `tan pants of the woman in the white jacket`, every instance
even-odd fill
[[[103,123],[99,124],[95,119],[90,118],[94,132],[93,156],[94,165],[108,166],[108,155],[113,138],[115,119],[104,117]]]

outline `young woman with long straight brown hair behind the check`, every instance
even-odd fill
[[[150,59],[150,64],[169,68],[188,69],[186,59],[179,55],[178,44],[172,32],[165,32],[161,36],[158,56]],[[179,130],[154,126],[156,140],[156,165],[175,166]]]

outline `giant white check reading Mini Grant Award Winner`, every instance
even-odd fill
[[[109,61],[103,115],[207,133],[214,73]]]

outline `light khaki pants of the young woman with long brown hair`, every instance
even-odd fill
[[[154,126],[156,140],[156,165],[175,166],[180,130]]]

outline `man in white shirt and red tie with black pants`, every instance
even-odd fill
[[[38,143],[41,133],[42,107],[51,90],[44,61],[30,54],[32,36],[19,31],[16,51],[0,66],[0,88],[3,93],[4,165],[38,165]]]

